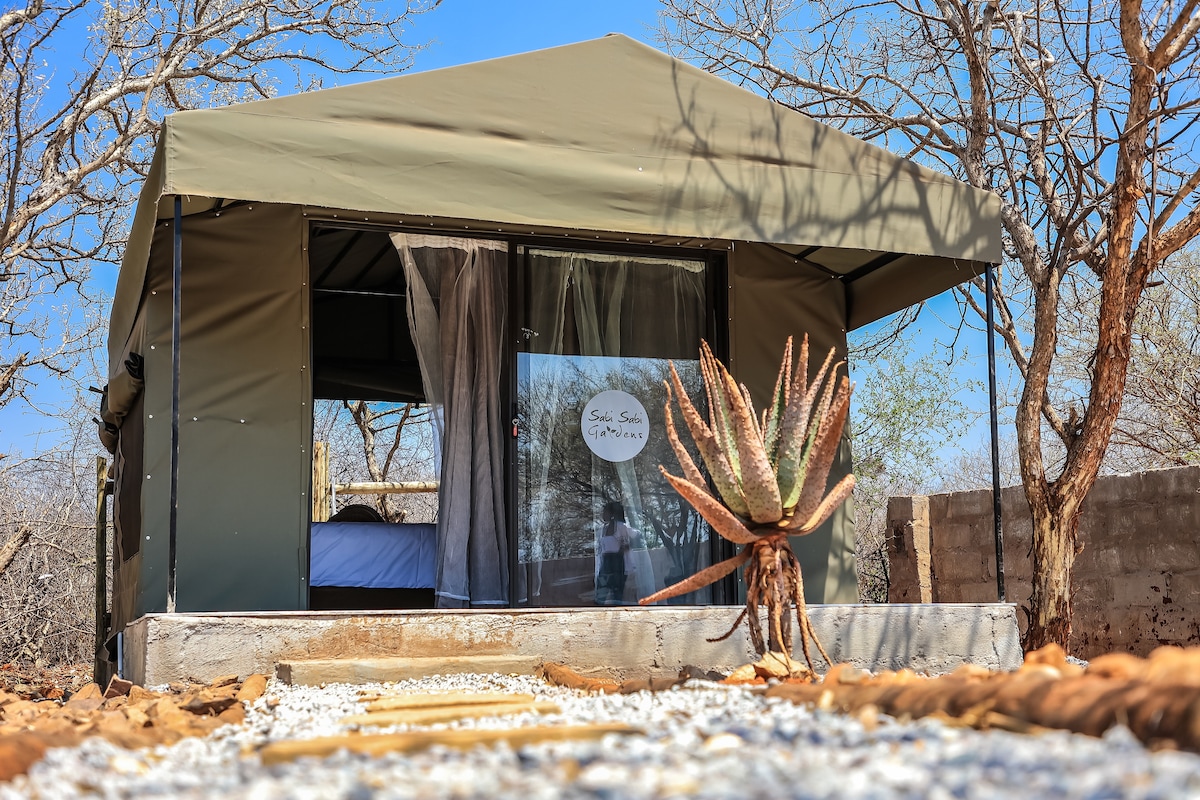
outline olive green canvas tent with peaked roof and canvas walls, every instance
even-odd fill
[[[318,312],[318,278],[328,291],[360,295],[403,284],[396,296],[406,297],[427,281],[442,314],[432,391],[468,372],[478,385],[451,395],[496,389],[461,405],[457,422],[446,408],[438,591],[504,604],[516,560],[504,553],[515,495],[502,405],[512,399],[505,391],[524,330],[509,305],[532,296],[518,259],[534,269],[538,253],[569,248],[598,253],[587,264],[599,270],[623,253],[636,266],[641,253],[703,275],[700,333],[762,398],[786,336],[844,351],[847,330],[997,263],[998,215],[990,193],[623,36],[172,115],[110,323],[115,630],[169,604],[306,607],[312,402],[340,385],[332,361],[320,361],[336,355],[322,348],[336,350],[337,337],[317,342],[313,325],[324,314],[326,329],[346,330],[367,317],[365,305]],[[474,271],[418,264],[424,240],[404,237],[421,231],[469,240],[455,247]],[[380,235],[395,247],[360,252],[388,245]],[[368,272],[376,283],[364,288]],[[413,302],[404,300],[404,336],[380,327],[362,337],[373,350],[360,342],[362,359],[338,362],[349,384],[382,381],[386,398],[419,386],[428,398],[434,362],[421,361],[419,383],[401,375],[414,363]],[[850,510],[810,539],[810,597],[853,600]]]

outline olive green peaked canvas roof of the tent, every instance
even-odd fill
[[[766,242],[842,277],[850,326],[1001,259],[994,194],[616,35],[169,116],[118,284],[114,356],[169,196],[188,211],[251,200]]]

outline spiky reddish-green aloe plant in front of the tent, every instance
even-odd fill
[[[746,606],[733,627],[710,640],[727,638],[745,620],[758,655],[770,650],[791,657],[792,625],[787,607],[794,604],[800,646],[809,668],[812,668],[809,639],[826,663],[832,663],[809,621],[800,563],[788,536],[812,533],[854,488],[854,476],[847,475],[826,493],[829,469],[850,411],[850,379],[835,377],[841,365],[834,363],[830,350],[810,384],[808,336],[800,343],[794,366],[792,339],[788,338],[770,405],[761,416],[755,416],[745,385],[738,385],[713,356],[708,343],[701,342],[700,367],[708,422],[696,410],[671,365],[671,381],[665,384],[666,428],[683,476],[671,475],[662,465],[659,469],[713,530],[743,547],[733,558],[642,599],[642,604],[695,591],[744,564]],[[712,476],[715,494],[679,440],[672,398],[679,404],[684,423]],[[767,610],[766,640],[760,604]]]

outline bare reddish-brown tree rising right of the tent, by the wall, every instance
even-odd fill
[[[1133,321],[1157,266],[1200,231],[1198,6],[665,0],[677,53],[1001,197],[1009,279],[997,331],[1024,378],[1016,429],[1033,518],[1027,648],[1069,644],[1079,512],[1120,416]],[[1072,283],[1097,287],[1097,338],[1081,401],[1063,409],[1050,387]],[[1010,305],[1006,290],[1027,301]],[[1044,433],[1063,449],[1052,473]]]

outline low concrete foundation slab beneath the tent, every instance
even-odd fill
[[[493,672],[494,664],[487,664],[499,657],[517,664],[503,672],[532,670],[542,661],[613,678],[676,675],[685,664],[727,670],[755,660],[744,626],[724,642],[706,639],[725,633],[740,610],[149,614],[126,628],[125,678],[144,686],[188,678],[208,681],[234,673],[272,674],[283,662],[295,675],[300,662],[340,658],[407,660],[412,663],[406,674],[413,664],[437,672],[438,660],[461,672],[469,658],[479,658],[481,672]],[[1021,662],[1010,604],[814,606],[809,614],[829,657],[860,668],[942,673],[964,663],[1013,669]],[[796,655],[803,657],[798,650],[799,642]],[[385,676],[377,668],[371,675]]]

